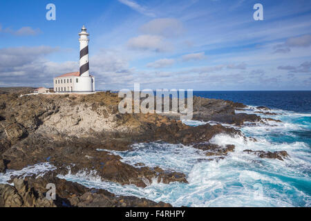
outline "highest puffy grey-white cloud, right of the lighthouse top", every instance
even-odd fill
[[[185,28],[178,19],[153,19],[144,24],[140,30],[147,35],[160,35],[162,37],[179,37]]]

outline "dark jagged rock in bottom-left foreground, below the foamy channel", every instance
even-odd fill
[[[14,180],[15,187],[5,185],[5,189],[10,189],[9,195],[17,198],[17,202],[12,200],[4,200],[6,206],[28,206],[25,202],[32,199],[32,206],[92,206],[92,207],[136,207],[136,206],[156,206],[167,207],[171,206],[164,202],[153,202],[144,198],[135,198],[127,196],[116,196],[109,191],[102,189],[88,189],[80,184],[69,182],[67,180],[59,179],[53,172],[46,173],[44,177],[35,178],[26,177],[25,180]],[[46,185],[55,184],[56,187],[56,200],[46,200]],[[19,189],[19,191],[17,191]],[[8,192],[8,190],[6,191]],[[0,184],[0,195],[1,195]],[[37,193],[37,197],[32,193]],[[41,194],[43,193],[43,194]],[[16,195],[17,194],[17,195]],[[0,197],[1,200],[1,197]],[[47,204],[50,202],[50,204]],[[0,201],[0,206],[3,206]]]

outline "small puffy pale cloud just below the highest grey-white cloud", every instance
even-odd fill
[[[151,50],[165,52],[171,50],[172,46],[158,35],[140,35],[129,39],[127,46],[133,50]]]

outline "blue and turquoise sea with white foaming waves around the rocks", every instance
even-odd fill
[[[223,160],[207,157],[203,151],[182,144],[165,142],[133,144],[131,151],[110,151],[122,157],[122,162],[135,165],[160,166],[187,175],[189,183],[164,184],[146,181],[147,187],[120,185],[102,180],[96,171],[80,171],[58,175],[60,178],[84,186],[106,189],[116,195],[132,195],[156,202],[168,202],[173,206],[311,206],[311,91],[194,91],[194,95],[232,100],[247,105],[236,113],[254,113],[257,106],[271,108],[261,115],[279,119],[245,124],[237,127],[246,137],[219,134],[211,142],[220,146],[234,144],[236,149]],[[215,124],[188,120],[190,126]],[[225,125],[230,126],[230,125]],[[283,161],[261,158],[243,152],[287,151]],[[105,151],[97,149],[97,151]],[[0,173],[0,183],[6,183],[12,175],[43,175],[55,167],[48,162],[28,166],[21,171]]]

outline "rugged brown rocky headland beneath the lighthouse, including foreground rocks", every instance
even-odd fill
[[[43,162],[53,164],[56,169],[43,177],[11,177],[14,185],[0,184],[0,206],[171,206],[88,189],[60,179],[57,174],[96,171],[102,180],[142,188],[155,178],[166,184],[187,183],[183,173],[143,164],[132,166],[111,151],[131,150],[131,144],[138,142],[162,141],[193,146],[206,151],[207,156],[224,159],[234,151],[234,145],[218,146],[209,140],[220,133],[242,134],[220,123],[243,126],[245,122],[265,121],[258,115],[236,113],[246,107],[244,104],[219,99],[194,97],[193,119],[218,124],[193,127],[180,122],[176,115],[121,114],[118,111],[121,99],[115,93],[20,96],[28,90],[0,89],[0,173]],[[279,160],[288,157],[284,152],[245,151]],[[54,201],[44,197],[46,184],[50,182],[57,186]]]

